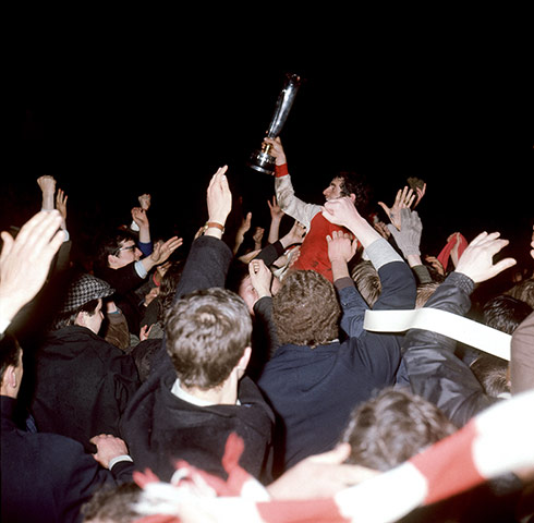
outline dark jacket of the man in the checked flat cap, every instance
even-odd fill
[[[98,434],[119,436],[119,419],[139,387],[134,360],[89,329],[51,332],[36,355],[32,414],[39,431],[94,447]]]

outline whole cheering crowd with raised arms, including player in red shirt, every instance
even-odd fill
[[[424,181],[306,203],[265,142],[270,222],[224,166],[191,239],[150,194],[73,233],[36,180],[1,234],[2,521],[532,523],[534,230],[521,270],[499,232],[424,253]]]

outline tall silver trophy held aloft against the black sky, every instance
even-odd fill
[[[266,137],[276,138],[280,134],[301,83],[302,78],[296,74],[286,74],[286,83],[280,95],[278,95],[275,112],[270,120]],[[265,174],[274,174],[276,158],[269,155],[270,148],[271,146],[269,144],[264,143],[262,149],[255,150],[252,154],[248,160],[248,167]]]

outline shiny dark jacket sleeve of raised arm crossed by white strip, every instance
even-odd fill
[[[425,307],[464,316],[471,307],[473,289],[469,277],[451,272]],[[484,392],[469,366],[454,355],[456,345],[454,340],[437,332],[411,329],[404,337],[403,351],[412,391],[437,405],[461,427],[501,400]]]

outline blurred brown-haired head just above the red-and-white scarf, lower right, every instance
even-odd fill
[[[386,472],[456,430],[433,403],[387,388],[353,411],[342,440],[351,445],[349,463]]]

